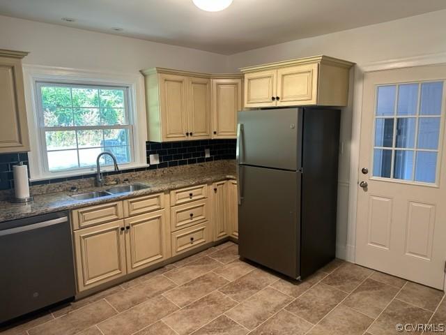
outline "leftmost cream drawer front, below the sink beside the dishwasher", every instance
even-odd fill
[[[123,203],[121,201],[75,209],[71,212],[74,230],[119,220],[123,217]]]

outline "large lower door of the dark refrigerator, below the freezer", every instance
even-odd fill
[[[300,276],[300,172],[240,165],[240,256]]]

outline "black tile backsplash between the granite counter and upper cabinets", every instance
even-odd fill
[[[205,158],[205,149],[209,149],[210,151],[208,158]],[[220,161],[223,159],[235,159],[236,140],[195,140],[166,143],[146,142],[146,154],[147,163],[149,163],[149,156],[151,154],[157,154],[160,158],[160,163],[153,164],[147,168],[123,170],[123,172],[138,172],[179,165]],[[0,190],[9,190],[14,187],[13,165],[20,163],[28,165],[28,154],[26,152],[20,154],[0,154]],[[104,174],[116,174],[116,172],[104,172]],[[73,179],[90,178],[94,177],[94,175],[95,173],[89,173],[68,178],[32,181],[31,185],[54,184]]]

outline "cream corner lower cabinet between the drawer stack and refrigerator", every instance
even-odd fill
[[[213,237],[238,239],[237,181],[218,181],[213,188]]]

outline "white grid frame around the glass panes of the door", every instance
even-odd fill
[[[421,109],[421,87],[424,83],[429,82],[443,82],[443,95],[442,95],[442,105],[440,110],[440,115],[421,115],[420,109]],[[397,107],[398,107],[398,97],[399,97],[399,87],[403,84],[418,84],[418,100],[417,100],[417,112],[415,115],[398,115],[397,114]],[[395,90],[395,101],[394,101],[394,113],[392,116],[378,116],[377,110],[378,110],[378,87],[386,87],[386,86],[396,86],[397,89]],[[387,181],[391,183],[397,183],[397,184],[409,184],[414,186],[427,186],[427,187],[433,187],[433,188],[439,188],[440,187],[440,169],[441,166],[441,155],[443,154],[443,131],[445,131],[445,113],[446,113],[446,80],[442,79],[436,79],[436,80],[417,80],[417,81],[410,81],[410,82],[388,82],[385,84],[378,84],[375,87],[375,98],[374,98],[374,126],[373,126],[373,133],[371,138],[371,158],[370,158],[370,166],[371,166],[371,176],[369,179],[371,180],[377,180],[377,181]],[[440,129],[438,133],[438,149],[419,149],[417,148],[417,137],[418,137],[418,130],[419,130],[419,124],[420,119],[429,119],[429,118],[440,118]],[[395,131],[397,129],[397,119],[405,119],[405,118],[415,118],[416,119],[416,126],[415,126],[415,139],[414,139],[414,147],[413,148],[398,148],[396,147],[396,135]],[[393,137],[392,137],[392,147],[379,147],[376,146],[376,119],[394,119],[393,124]],[[374,151],[375,149],[385,149],[385,150],[391,150],[392,151],[392,158],[391,158],[391,167],[390,167],[390,177],[378,177],[374,176]],[[412,151],[413,152],[413,180],[407,180],[407,179],[396,179],[394,178],[394,158],[397,151]],[[436,152],[437,154],[437,161],[436,161],[436,176],[435,176],[435,182],[429,183],[426,181],[415,181],[415,169],[416,169],[416,156],[417,152]]]

